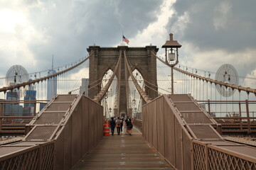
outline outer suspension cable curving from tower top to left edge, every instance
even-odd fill
[[[94,52],[91,52],[88,57],[86,57],[84,60],[82,60],[82,61],[79,62],[78,64],[75,64],[73,67],[69,67],[68,69],[65,69],[65,70],[63,70],[63,71],[61,71],[61,72],[52,74],[52,75],[47,76],[47,77],[42,77],[42,78],[39,78],[39,79],[34,79],[34,80],[32,80],[32,81],[23,82],[23,83],[21,83],[21,84],[16,84],[16,85],[14,85],[14,86],[3,87],[3,88],[0,89],[0,92],[3,92],[3,91],[6,92],[6,91],[8,91],[8,90],[13,90],[13,89],[16,89],[16,88],[20,88],[21,86],[26,86],[26,85],[30,85],[30,84],[35,84],[35,83],[38,83],[38,82],[40,82],[40,81],[43,81],[43,80],[46,80],[46,79],[50,79],[50,78],[52,78],[52,77],[56,77],[56,76],[58,76],[58,75],[60,75],[60,74],[63,74],[63,73],[65,73],[65,72],[68,72],[68,71],[74,69],[75,67],[78,67],[80,64],[82,64],[82,63],[85,62],[86,60],[88,60],[88,59],[92,56],[93,53],[94,53]]]

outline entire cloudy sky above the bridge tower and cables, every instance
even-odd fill
[[[256,77],[255,0],[0,0],[0,77],[14,64],[28,73],[87,55],[89,45],[161,45],[174,33],[180,64],[216,72],[232,64]],[[245,80],[246,81],[246,80]],[[255,81],[247,86],[255,87]]]

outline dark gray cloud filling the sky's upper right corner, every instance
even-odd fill
[[[205,50],[255,47],[255,6],[254,0],[179,0],[174,4],[176,15],[169,21],[168,28],[174,28],[178,17],[188,13],[189,23],[181,40],[193,42]]]

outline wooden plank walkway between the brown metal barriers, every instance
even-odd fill
[[[105,136],[75,167],[82,169],[174,169],[134,130],[132,136]]]

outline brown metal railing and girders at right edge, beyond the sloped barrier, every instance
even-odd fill
[[[224,135],[256,132],[256,101],[198,101],[222,125]],[[214,111],[214,110],[219,111]]]

